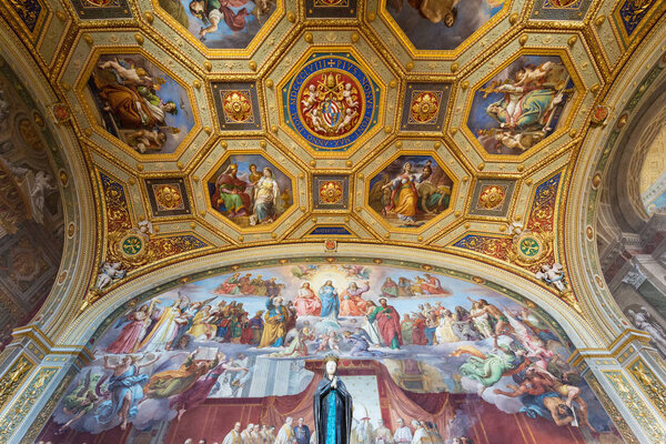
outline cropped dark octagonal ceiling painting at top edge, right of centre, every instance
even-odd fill
[[[490,26],[504,0],[387,0],[383,13],[393,30],[416,50],[453,51]]]

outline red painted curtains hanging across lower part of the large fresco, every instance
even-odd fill
[[[287,416],[303,416],[305,424],[313,428],[312,395],[323,374],[320,362],[309,363],[314,377],[305,391],[297,395],[268,396],[262,398],[209,398],[199,406],[189,410],[181,421],[172,421],[164,440],[167,444],[182,444],[186,438],[205,440],[206,443],[221,443],[224,436],[240,421],[245,427],[249,423],[275,426],[275,434]],[[431,421],[437,425],[446,438],[448,421],[456,412],[464,411],[473,420],[470,437],[478,444],[564,444],[584,443],[577,427],[559,427],[545,418],[531,420],[523,414],[506,414],[494,405],[478,400],[476,395],[451,393],[414,393],[401,389],[390,376],[384,365],[376,361],[345,361],[340,363],[340,375],[375,375],[380,393],[382,416],[391,430],[395,430],[396,420],[402,417],[407,424],[412,420]],[[375,420],[375,418],[373,418]],[[128,431],[120,427],[99,435],[77,433],[56,435],[58,424],[52,421],[43,431],[40,440],[53,443],[124,443]]]

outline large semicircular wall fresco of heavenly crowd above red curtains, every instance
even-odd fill
[[[434,443],[613,440],[566,363],[564,332],[528,304],[434,272],[346,263],[194,281],[104,322],[40,440],[213,442],[236,421],[262,440],[287,416],[314,430],[330,353],[353,395],[352,442],[393,436],[398,417],[426,424]]]

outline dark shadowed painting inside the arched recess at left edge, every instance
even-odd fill
[[[0,59],[0,349],[56,280],[64,236],[54,143],[29,89]]]

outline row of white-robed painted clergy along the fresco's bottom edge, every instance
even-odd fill
[[[413,420],[411,427],[401,417],[397,418],[395,431],[386,427],[383,420],[377,420],[376,427],[369,417],[361,421],[354,420],[352,435],[349,444],[444,444],[444,438],[434,423]],[[316,434],[300,417],[294,425],[292,417],[287,417],[275,435],[275,427],[265,424],[248,424],[243,428],[240,422],[226,434],[222,444],[316,444]],[[193,444],[193,438],[188,438],[183,444]],[[200,440],[199,443],[205,443]],[[465,436],[453,437],[446,443],[473,444]],[[218,444],[218,442],[213,442]]]

